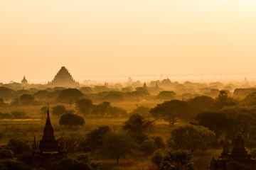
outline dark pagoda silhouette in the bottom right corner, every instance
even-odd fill
[[[230,152],[228,144],[223,147],[223,153],[218,159],[212,159],[210,170],[231,170],[227,164],[230,161],[239,162],[252,170],[256,170],[256,160],[247,154],[245,145],[240,134],[235,137],[233,150]]]

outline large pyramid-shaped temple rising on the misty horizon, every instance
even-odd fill
[[[68,69],[61,67],[60,71],[55,75],[53,81],[48,82],[48,86],[65,86],[75,87],[79,86],[78,81],[75,81]]]

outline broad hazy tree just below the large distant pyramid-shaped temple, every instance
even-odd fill
[[[64,89],[63,91],[60,91],[60,94],[58,96],[58,101],[64,102],[64,103],[69,103],[70,106],[78,100],[82,98],[82,92],[79,91],[78,89]]]

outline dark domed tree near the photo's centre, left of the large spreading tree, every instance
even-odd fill
[[[153,123],[153,120],[146,120],[142,115],[135,113],[129,117],[129,120],[124,122],[123,128],[133,133],[143,133],[152,127]]]

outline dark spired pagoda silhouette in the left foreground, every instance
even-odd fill
[[[43,139],[36,143],[36,137],[34,137],[33,141],[32,164],[37,169],[43,167],[43,169],[49,170],[55,162],[59,162],[66,157],[67,150],[65,149],[64,138],[60,138],[59,144],[58,140],[55,140],[53,133],[48,109]]]

